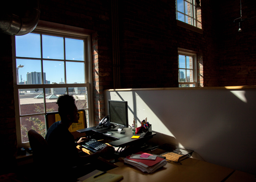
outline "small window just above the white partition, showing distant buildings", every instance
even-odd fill
[[[196,54],[178,51],[179,87],[197,87]]]

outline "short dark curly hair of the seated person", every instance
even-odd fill
[[[59,106],[58,111],[61,119],[65,119],[76,107],[75,98],[72,95],[67,94],[59,96],[56,104]]]

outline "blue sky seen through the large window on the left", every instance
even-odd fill
[[[42,35],[43,71],[46,80],[59,83],[64,82],[64,40],[66,56],[67,83],[84,83],[84,42],[83,40]],[[41,40],[40,34],[29,33],[15,36],[16,56],[30,59],[16,59],[22,81],[27,80],[27,72],[41,72]],[[33,59],[35,58],[35,59]],[[47,60],[46,60],[47,59]],[[57,59],[57,60],[50,60]],[[77,61],[70,62],[68,60]]]

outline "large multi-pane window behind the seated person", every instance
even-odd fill
[[[45,114],[58,110],[57,98],[73,95],[91,119],[88,35],[36,28],[15,36],[15,107],[19,146],[28,146],[27,131],[45,137]]]

